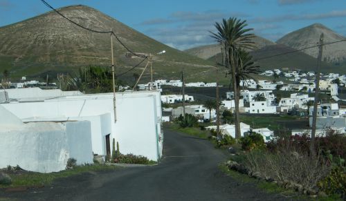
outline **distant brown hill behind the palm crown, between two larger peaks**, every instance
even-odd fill
[[[271,46],[275,44],[272,41],[258,36],[253,38],[253,42],[255,43],[257,49],[263,48],[264,46]],[[219,44],[212,44],[208,46],[190,48],[188,50],[184,50],[184,52],[187,52],[190,55],[194,55],[202,59],[209,59],[210,57],[214,57],[215,55],[221,53],[221,47],[219,46]]]

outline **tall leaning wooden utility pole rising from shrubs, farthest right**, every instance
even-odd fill
[[[316,123],[317,123],[317,105],[318,105],[318,98],[320,93],[320,66],[322,61],[322,50],[323,50],[323,33],[320,35],[320,42],[318,44],[315,99],[313,102],[312,129],[311,129],[311,142],[310,142],[311,155],[315,155],[315,134],[316,134]]]

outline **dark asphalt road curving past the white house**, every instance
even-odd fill
[[[226,155],[208,140],[165,131],[165,157],[157,166],[126,167],[56,180],[52,186],[20,193],[16,200],[282,200],[224,175]],[[1,200],[1,199],[0,199]]]

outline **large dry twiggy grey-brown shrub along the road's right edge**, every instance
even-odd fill
[[[272,178],[279,182],[291,181],[302,185],[304,189],[316,189],[318,181],[328,175],[330,166],[316,155],[280,150],[277,153],[255,150],[246,154],[244,166],[252,173],[258,173],[263,178]]]

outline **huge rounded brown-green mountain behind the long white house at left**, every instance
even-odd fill
[[[191,73],[208,68],[209,61],[170,48],[126,26],[102,12],[87,6],[68,6],[58,9],[69,19],[94,30],[108,31],[111,28],[119,39],[134,52],[163,55],[154,56],[156,77],[178,77],[181,68]],[[78,66],[110,66],[110,34],[84,30],[70,23],[56,12],[14,23],[0,28],[0,70],[10,70],[12,76],[39,75],[47,72],[71,72]],[[116,57],[116,72],[138,64],[139,58],[127,57],[127,50],[113,39]],[[137,73],[145,62],[135,70]],[[131,77],[133,72],[129,73]],[[187,73],[187,76],[188,73]]]

